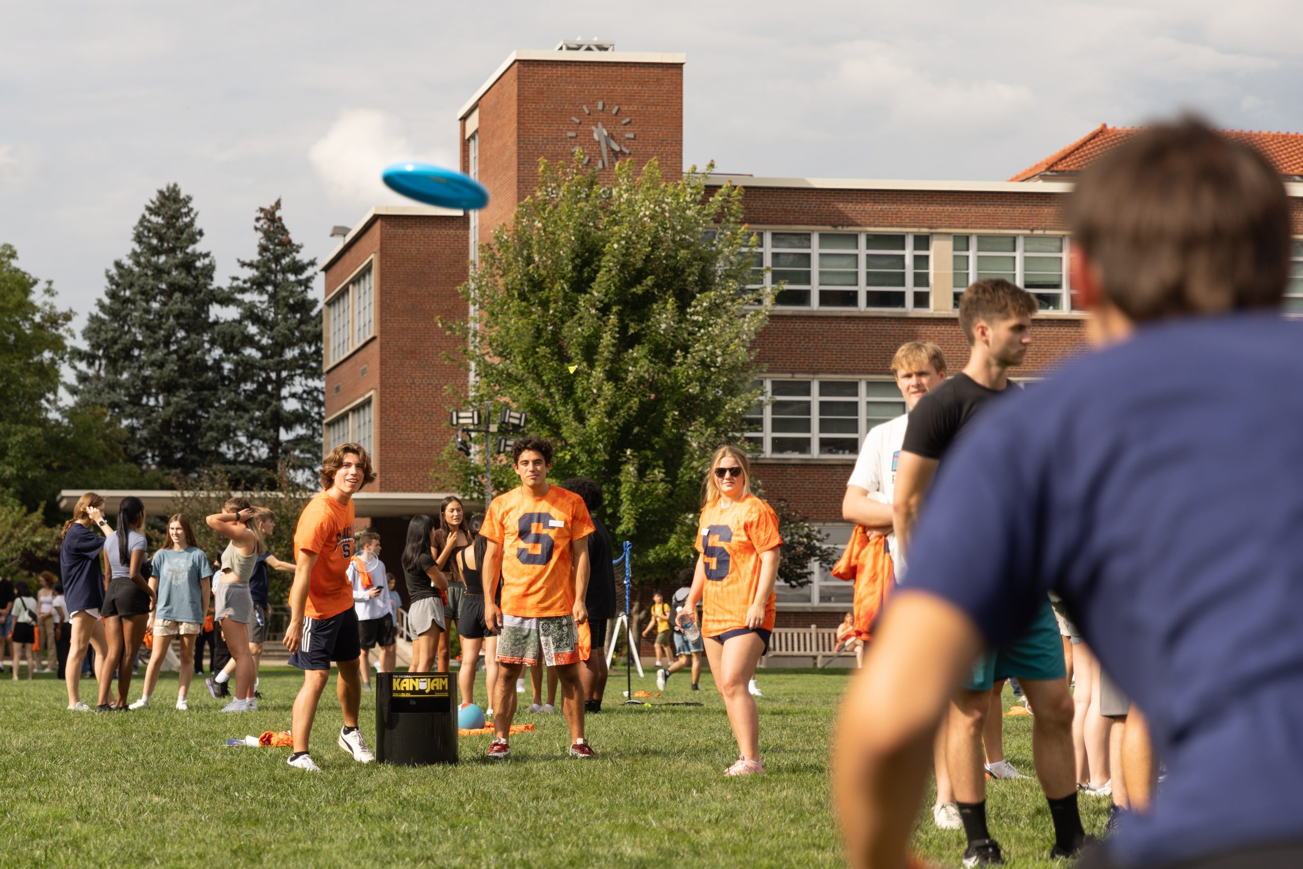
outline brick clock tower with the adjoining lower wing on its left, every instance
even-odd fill
[[[437,515],[448,494],[430,472],[451,436],[448,410],[466,392],[466,373],[444,358],[456,341],[435,318],[466,317],[457,287],[478,245],[533,193],[538,160],[582,147],[602,173],[653,158],[667,176],[683,168],[684,55],[612,48],[513,52],[459,116],[460,168],[489,188],[489,207],[371,208],[321,264],[323,448],[353,440],[371,452],[378,479],[357,498],[358,524],[380,533],[394,564],[408,519]]]

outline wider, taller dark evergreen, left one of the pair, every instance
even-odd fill
[[[106,272],[76,352],[74,395],[126,430],[128,461],[192,477],[220,465],[229,390],[220,363],[212,255],[176,184],[145,206],[132,250]]]

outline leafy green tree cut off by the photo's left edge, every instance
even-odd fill
[[[53,302],[50,281],[18,267],[0,245],[0,491],[21,494],[44,476],[42,457],[57,412],[60,366],[73,313]]]

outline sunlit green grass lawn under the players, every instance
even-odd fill
[[[172,709],[176,674],[160,679],[152,709],[104,715],[66,711],[64,684],[50,676],[7,674],[0,865],[842,865],[827,749],[846,674],[760,674],[767,775],[744,779],[722,775],[736,747],[709,674],[691,694],[685,675],[652,702],[704,707],[622,707],[624,676],[612,674],[606,711],[589,718],[595,761],[566,757],[559,714],[520,715],[537,731],[512,739],[508,762],[490,765],[489,737],[472,736],[447,767],[353,762],[335,745],[330,688],[313,735],[323,773],[310,775],[285,765],[289,749],[224,745],[289,727],[297,671],[263,670],[261,709],[233,715],[218,713],[202,681],[189,713]],[[82,689],[94,700],[93,681]],[[635,679],[637,689],[654,693],[654,680]],[[374,697],[362,696],[373,747]],[[1006,722],[1006,756],[1031,773],[1031,720]],[[1102,829],[1105,803],[1083,799],[1088,831]],[[1049,865],[1049,810],[1035,780],[992,783],[989,805],[1009,865]],[[936,830],[926,812],[917,848],[955,866],[963,834]]]

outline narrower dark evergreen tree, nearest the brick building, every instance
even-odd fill
[[[280,466],[315,468],[322,448],[322,309],[313,293],[315,263],[301,258],[280,199],[258,208],[258,257],[232,281],[232,375],[240,399],[228,409],[241,452],[232,474],[275,479]]]

